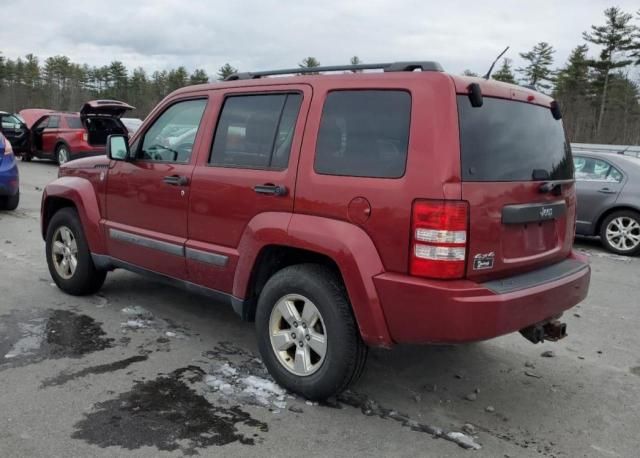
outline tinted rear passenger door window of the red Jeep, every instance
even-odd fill
[[[251,169],[287,168],[301,94],[227,97],[210,164]]]

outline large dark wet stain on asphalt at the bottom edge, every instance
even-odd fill
[[[266,423],[238,406],[213,405],[188,385],[204,378],[203,369],[188,366],[136,382],[131,391],[96,404],[94,412],[76,423],[72,437],[103,448],[156,447],[185,455],[210,446],[260,441],[259,433],[269,429]]]

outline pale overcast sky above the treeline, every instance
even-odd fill
[[[210,75],[225,62],[245,70],[322,64],[437,60],[445,70],[484,73],[506,46],[539,41],[556,65],[603,23],[602,0],[2,0],[0,51],[17,58],[64,54],[74,62],[123,61],[148,71],[184,65]],[[617,0],[629,13],[638,0]]]

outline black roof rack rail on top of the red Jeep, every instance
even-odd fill
[[[341,72],[353,70],[384,70],[385,72],[412,72],[421,70],[423,72],[442,72],[442,66],[438,62],[389,62],[385,64],[356,64],[356,65],[331,65],[325,67],[308,68],[285,68],[282,70],[267,70],[261,72],[234,73],[225,78],[225,81],[250,80],[262,78],[263,76],[320,73],[320,72]]]

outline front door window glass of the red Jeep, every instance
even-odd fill
[[[171,105],[144,134],[137,157],[155,162],[189,162],[206,105],[206,99]]]

